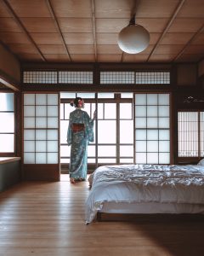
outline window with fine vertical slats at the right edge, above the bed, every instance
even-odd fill
[[[178,157],[204,156],[204,112],[178,112]]]

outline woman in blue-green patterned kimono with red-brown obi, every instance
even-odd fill
[[[94,119],[83,111],[84,101],[77,97],[71,106],[76,109],[70,113],[67,131],[67,143],[71,145],[70,180],[71,183],[86,180],[88,142],[94,142]]]

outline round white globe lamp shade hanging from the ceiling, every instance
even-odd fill
[[[117,43],[124,52],[137,54],[150,44],[150,33],[139,25],[129,25],[122,28]]]

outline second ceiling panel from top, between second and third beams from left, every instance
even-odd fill
[[[63,33],[93,32],[91,19],[59,18],[58,21]]]

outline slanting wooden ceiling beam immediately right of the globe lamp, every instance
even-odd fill
[[[175,20],[176,16],[178,15],[179,10],[183,7],[185,1],[186,1],[186,0],[181,0],[181,1],[178,3],[176,9],[175,9],[174,12],[173,12],[173,15],[172,15],[171,19],[170,19],[170,20],[168,21],[168,23],[167,23],[166,28],[165,28],[164,31],[161,33],[161,37],[158,39],[158,41],[156,42],[154,48],[151,50],[150,55],[148,56],[148,58],[147,58],[147,60],[146,60],[147,62],[150,60],[150,56],[155,53],[157,47],[158,47],[159,44],[161,43],[161,40],[162,40],[162,39],[164,38],[164,36],[167,34],[167,31],[168,31],[169,27],[172,26],[173,20]]]

